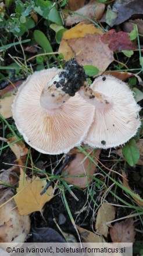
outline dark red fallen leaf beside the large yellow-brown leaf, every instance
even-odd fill
[[[109,49],[112,51],[121,50],[134,50],[137,48],[134,41],[131,41],[128,33],[117,32],[115,29],[111,29],[101,35],[102,43],[108,44]]]

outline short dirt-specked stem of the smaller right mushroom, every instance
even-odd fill
[[[83,87],[81,87],[78,92],[85,99],[85,101],[91,105],[94,105],[95,108],[109,109],[113,105],[111,98],[97,91],[93,91],[87,82],[84,82]]]

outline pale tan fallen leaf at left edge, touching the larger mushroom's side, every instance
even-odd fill
[[[12,103],[14,95],[11,94],[5,98],[0,99],[0,114],[6,119],[12,117]]]

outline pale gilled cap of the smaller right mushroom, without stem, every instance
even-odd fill
[[[113,104],[108,109],[95,108],[94,122],[85,137],[85,143],[98,148],[126,143],[135,136],[141,125],[138,114],[141,108],[135,102],[133,92],[125,82],[112,75],[96,78],[91,88],[109,96]]]

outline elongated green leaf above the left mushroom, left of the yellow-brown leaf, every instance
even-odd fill
[[[42,49],[44,49],[47,53],[53,52],[53,49],[51,47],[51,44],[49,43],[49,40],[47,39],[45,34],[42,33],[40,30],[34,31],[34,39],[42,47]]]

